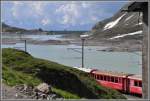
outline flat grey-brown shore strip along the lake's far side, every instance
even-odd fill
[[[22,38],[22,39],[13,39],[13,38],[2,38],[2,44],[16,44],[16,43],[23,43],[24,40],[27,40],[28,44],[35,44],[35,45],[82,45],[82,41],[79,38],[76,39],[63,39],[63,40],[33,40],[31,38]],[[130,45],[128,42],[125,43],[108,43],[104,41],[85,41],[85,46],[102,46],[107,47],[102,50],[98,51],[106,51],[106,52],[134,52],[134,51],[142,51],[141,47],[142,44],[134,44]]]

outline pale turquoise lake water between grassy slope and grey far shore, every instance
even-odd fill
[[[23,45],[23,43],[16,45],[7,44],[2,45],[2,48],[14,48]],[[130,53],[98,51],[103,48],[105,47],[85,46],[85,68],[141,74],[141,52]],[[28,44],[27,51],[37,58],[55,61],[67,66],[81,67],[81,46]]]

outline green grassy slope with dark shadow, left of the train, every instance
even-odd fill
[[[2,57],[3,81],[10,86],[47,82],[64,98],[125,98],[115,90],[97,85],[93,78],[77,69],[10,48],[2,50]]]

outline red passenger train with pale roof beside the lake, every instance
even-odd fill
[[[89,73],[96,81],[105,87],[119,90],[124,93],[138,94],[142,96],[141,75],[100,71],[94,69],[77,68]]]

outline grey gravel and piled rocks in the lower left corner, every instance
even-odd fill
[[[26,84],[9,87],[2,84],[3,99],[62,99],[60,95],[50,91],[50,86],[46,83],[41,83],[37,87]]]

